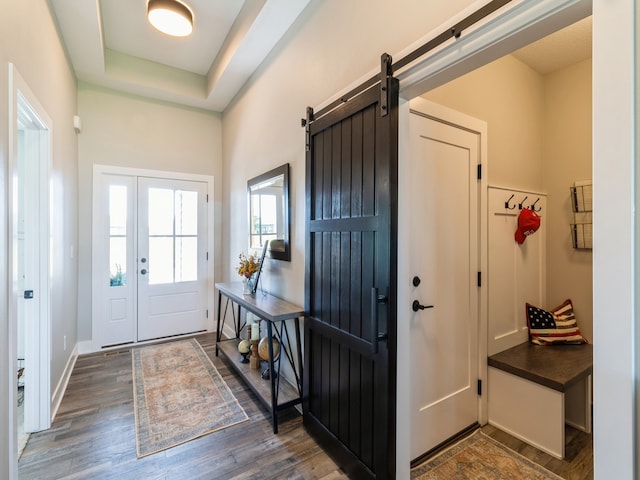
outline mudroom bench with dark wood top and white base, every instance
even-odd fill
[[[489,423],[564,458],[565,423],[591,432],[593,345],[529,342],[495,355],[489,364]]]

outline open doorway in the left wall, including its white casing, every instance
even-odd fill
[[[30,432],[51,425],[50,187],[51,119],[13,65],[9,65],[10,300],[9,364],[16,459]]]

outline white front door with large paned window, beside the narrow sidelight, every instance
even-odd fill
[[[138,179],[138,340],[206,329],[206,184]]]

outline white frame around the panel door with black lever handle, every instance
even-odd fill
[[[399,145],[398,145],[398,183],[402,184],[402,179],[411,175],[411,149],[409,136],[409,122],[412,110],[419,111],[420,114],[433,120],[450,124],[479,136],[479,163],[482,165],[482,175],[479,180],[478,188],[478,271],[484,272],[484,278],[487,278],[487,259],[488,259],[488,229],[487,229],[487,123],[463,114],[448,107],[444,107],[424,98],[415,98],[410,102],[401,102],[399,111]],[[411,302],[414,300],[409,278],[412,271],[411,258],[409,255],[410,245],[410,228],[412,222],[415,221],[414,210],[408,202],[407,195],[398,196],[398,345],[409,345],[410,329],[409,322],[401,319],[411,318]],[[478,378],[482,384],[486,386],[487,382],[487,287],[485,285],[479,287],[478,291]],[[409,377],[410,362],[413,355],[408,348],[398,348],[398,396],[397,396],[397,442],[398,453],[406,458],[398,458],[398,469],[401,463],[407,466],[410,464],[410,442],[411,442],[411,416],[402,414],[402,412],[410,412],[410,396],[402,395],[402,392],[409,392],[411,384],[414,382]],[[487,423],[488,419],[488,401],[486,388],[483,395],[478,398],[478,422],[480,424]],[[402,443],[400,443],[402,442]],[[398,476],[398,478],[403,478]]]

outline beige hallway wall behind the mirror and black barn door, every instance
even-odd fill
[[[391,55],[438,27],[471,0],[311,2],[223,115],[222,260],[235,280],[235,259],[247,249],[247,180],[291,164],[291,262],[270,261],[264,286],[288,300],[304,301],[304,129],[307,106],[317,107],[372,71]],[[330,26],[330,28],[328,28]]]

